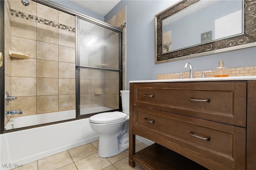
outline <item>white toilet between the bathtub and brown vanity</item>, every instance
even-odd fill
[[[129,90],[120,90],[123,112],[113,111],[93,115],[90,127],[99,134],[98,155],[115,156],[129,147]]]

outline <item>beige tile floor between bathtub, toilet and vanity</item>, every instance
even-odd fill
[[[13,170],[144,170],[128,165],[128,150],[109,158],[98,156],[99,141],[43,158]],[[147,147],[136,140],[136,152]]]

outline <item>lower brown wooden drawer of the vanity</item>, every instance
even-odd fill
[[[243,127],[138,106],[134,106],[133,127],[134,134],[136,129],[150,133],[154,139],[142,137],[156,143],[155,137],[165,139],[168,143],[159,144],[171,150],[177,151],[173,145],[176,144],[231,168],[237,168],[236,165],[245,168],[246,129]]]

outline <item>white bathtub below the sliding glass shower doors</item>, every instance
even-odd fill
[[[13,117],[6,129],[12,129],[12,124],[18,128],[72,118],[74,110]],[[0,169],[12,169],[98,139],[88,118],[4,133],[0,135]]]

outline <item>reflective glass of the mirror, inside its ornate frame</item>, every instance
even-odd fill
[[[242,1],[203,0],[164,19],[162,27],[163,53],[240,34]]]

